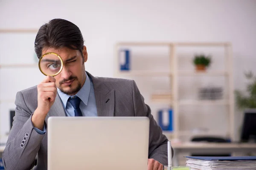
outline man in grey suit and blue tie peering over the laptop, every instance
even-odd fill
[[[137,85],[132,80],[93,77],[86,72],[87,49],[76,25],[62,19],[44,24],[35,38],[35,52],[38,58],[47,52],[59,54],[64,67],[57,76],[47,76],[39,85],[17,93],[13,127],[3,152],[6,169],[31,169],[37,154],[35,170],[47,169],[49,116],[148,116],[148,170],[163,170],[168,140]]]

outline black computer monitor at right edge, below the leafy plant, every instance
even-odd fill
[[[256,142],[256,110],[244,113],[241,142]]]

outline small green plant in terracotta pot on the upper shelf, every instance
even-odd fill
[[[211,63],[211,58],[210,56],[205,56],[204,54],[195,55],[193,62],[197,71],[205,71],[206,67],[208,67]]]

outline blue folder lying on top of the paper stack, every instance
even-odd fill
[[[205,161],[239,161],[256,160],[256,156],[185,156],[190,159],[200,159]]]

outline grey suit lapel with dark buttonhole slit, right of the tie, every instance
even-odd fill
[[[93,81],[98,116],[114,116],[115,91],[109,89],[97,77],[93,77],[88,72],[87,74]]]

